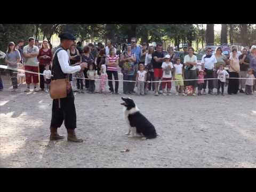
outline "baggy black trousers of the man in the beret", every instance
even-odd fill
[[[66,98],[53,99],[52,101],[52,120],[51,127],[58,128],[63,121],[66,129],[76,129],[76,108],[74,103],[75,97],[73,91]]]

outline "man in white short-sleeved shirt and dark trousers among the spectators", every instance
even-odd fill
[[[202,63],[202,69],[206,73],[205,78],[213,78],[214,65],[215,63],[217,63],[217,59],[215,58],[214,54],[212,54],[212,49],[210,47],[206,49],[206,54],[203,55],[201,63]],[[214,94],[212,91],[213,79],[204,81],[204,86],[203,86],[204,94],[205,94],[207,81],[208,81],[208,94]]]

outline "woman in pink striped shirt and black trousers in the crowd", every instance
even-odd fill
[[[107,56],[107,74],[108,74],[108,79],[112,80],[112,74],[114,75],[114,79],[118,80],[118,73],[117,73],[117,67],[119,63],[119,57],[118,55],[115,54],[115,49],[113,46],[110,47],[109,50],[109,55]],[[112,81],[108,81],[108,86],[110,93],[114,93],[113,89],[113,83]],[[118,93],[118,81],[115,82],[115,94]]]

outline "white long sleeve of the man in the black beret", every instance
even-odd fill
[[[57,53],[57,57],[60,63],[60,68],[65,74],[73,74],[81,70],[81,67],[78,66],[69,66],[69,57],[68,52],[65,50],[60,50]]]

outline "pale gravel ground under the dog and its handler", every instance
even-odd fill
[[[6,88],[0,92],[0,167],[256,167],[256,95],[132,98],[159,137],[124,135],[121,95],[76,93],[76,132],[84,142],[71,143],[63,125],[65,139],[49,141],[49,94]]]

